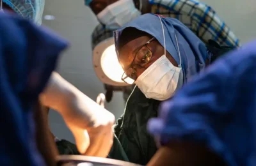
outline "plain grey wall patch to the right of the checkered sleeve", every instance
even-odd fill
[[[242,43],[256,38],[255,0],[204,0],[225,20]]]

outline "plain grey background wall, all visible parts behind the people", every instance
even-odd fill
[[[225,20],[232,31],[244,43],[256,38],[256,1],[255,0],[205,0]],[[69,82],[90,96],[93,100],[104,87],[96,77],[92,65],[91,33],[97,25],[97,19],[90,8],[84,6],[84,0],[45,0],[45,15],[54,15],[56,20],[44,20],[45,26],[51,27],[70,41],[70,49],[63,54],[58,71]],[[121,93],[115,93],[106,108],[119,117],[124,112]],[[52,132],[61,139],[74,141],[61,117],[50,112]]]

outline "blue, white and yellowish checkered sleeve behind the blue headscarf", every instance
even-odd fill
[[[230,28],[218,17],[216,12],[196,0],[149,0],[153,6],[161,6],[168,9],[169,17],[179,19],[180,22],[188,26],[202,41],[218,41],[221,45],[238,47],[239,39]],[[155,13],[163,14],[161,11]],[[162,10],[163,11],[163,10]],[[166,16],[166,11],[165,16]]]

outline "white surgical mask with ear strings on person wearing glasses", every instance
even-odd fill
[[[159,19],[161,21],[160,17]],[[176,34],[175,39],[177,42],[180,59],[180,50]],[[140,77],[138,77],[135,84],[140,88],[147,98],[153,98],[160,101],[167,100],[168,98],[172,97],[176,89],[179,89],[182,86],[183,72],[181,65],[179,64],[179,67],[173,66],[173,64],[166,57],[165,38],[164,55],[159,57],[157,61],[151,64],[147,70],[145,70]]]

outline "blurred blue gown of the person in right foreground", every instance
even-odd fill
[[[256,165],[256,40],[212,64],[148,122],[161,144],[201,142],[228,165]]]

